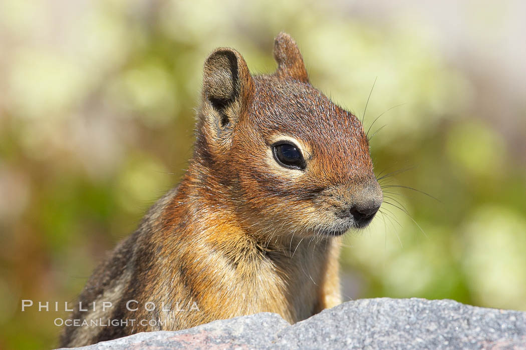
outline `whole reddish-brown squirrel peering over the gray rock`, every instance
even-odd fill
[[[383,201],[369,141],[288,34],[274,58],[257,76],[234,49],[206,59],[185,176],[95,269],[61,346],[259,312],[296,323],[341,303],[341,236]]]

